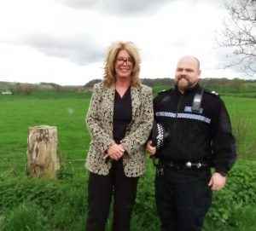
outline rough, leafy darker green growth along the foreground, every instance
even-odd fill
[[[131,231],[158,231],[154,203],[154,167],[147,158],[131,217]],[[224,190],[213,193],[204,231],[254,231],[256,161],[239,161]],[[24,176],[0,177],[0,230],[84,230],[87,217],[87,176],[58,181]],[[111,230],[112,214],[106,231]]]

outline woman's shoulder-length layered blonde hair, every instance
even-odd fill
[[[140,84],[139,72],[141,58],[138,53],[137,46],[132,42],[115,42],[108,47],[105,66],[104,66],[104,82],[111,86],[116,81],[116,73],[114,70],[114,63],[116,57],[121,49],[124,49],[133,60],[133,70],[131,72],[131,86]]]

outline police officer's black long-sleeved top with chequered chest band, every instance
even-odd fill
[[[200,92],[197,84],[183,95],[176,88],[154,98],[154,119],[170,132],[170,141],[156,154],[162,160],[205,161],[217,171],[226,172],[236,160],[229,114],[218,95],[207,90],[201,107],[194,112],[194,96]]]

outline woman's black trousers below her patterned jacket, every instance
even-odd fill
[[[108,176],[90,172],[88,182],[89,213],[86,231],[104,231],[113,196],[113,231],[129,231],[131,211],[139,177],[125,176],[122,159],[113,161]]]

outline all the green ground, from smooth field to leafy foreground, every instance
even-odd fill
[[[222,98],[239,137],[240,159],[256,160],[256,99]],[[3,214],[0,213],[0,230],[2,227],[14,231],[62,231],[65,230],[63,225],[69,227],[68,230],[83,230],[87,175],[84,159],[90,143],[84,117],[89,102],[90,94],[0,95],[0,197],[3,198],[0,204],[4,208]],[[35,181],[22,177],[25,176],[27,161],[28,128],[41,124],[57,126],[58,152],[67,173],[73,174],[70,182]],[[139,183],[132,231],[156,231],[159,228],[154,205],[154,167],[149,159],[147,162],[147,174]],[[228,187],[213,200],[204,230],[254,230],[255,165],[255,161],[246,161],[245,164],[241,161],[241,165],[234,167]],[[247,182],[248,179],[252,180]],[[27,195],[31,198],[26,199]],[[244,218],[237,217],[240,215],[252,223],[252,228],[247,226]],[[110,224],[108,222],[107,230],[110,230]]]

